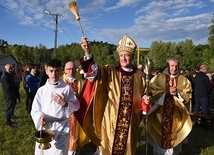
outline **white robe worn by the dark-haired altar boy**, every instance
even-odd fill
[[[56,103],[52,99],[54,93],[63,95],[68,102],[68,107]],[[67,155],[69,140],[69,121],[67,118],[79,108],[80,104],[74,91],[62,79],[59,79],[56,85],[51,84],[48,79],[46,84],[38,89],[33,101],[31,117],[36,129],[41,130],[40,116],[43,115],[45,120],[49,122],[43,128],[55,132],[51,148],[42,150],[43,155]],[[36,142],[35,155],[41,154],[38,145],[39,143]]]

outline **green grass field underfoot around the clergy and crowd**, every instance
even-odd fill
[[[4,127],[5,103],[0,85],[0,155],[33,155],[34,134],[36,132],[31,117],[25,110],[25,92],[21,85],[21,103],[18,102],[14,120],[16,128]],[[88,145],[87,147],[89,147]],[[82,155],[89,155],[89,148],[85,147]],[[145,155],[145,141],[139,136],[136,155]],[[152,155],[152,147],[149,146],[148,155]],[[202,126],[194,126],[188,136],[188,143],[183,145],[182,155],[214,155],[214,130],[205,131]]]

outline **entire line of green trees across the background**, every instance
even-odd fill
[[[118,64],[116,45],[93,41],[91,42],[91,51],[93,51],[98,64]],[[22,66],[31,64],[39,68],[43,67],[44,63],[50,58],[53,58],[54,49],[47,49],[42,44],[36,47],[9,45],[0,46],[0,54],[12,54]],[[66,63],[67,61],[78,61],[83,54],[81,46],[77,43],[72,43],[59,46],[56,57]],[[166,58],[176,56],[180,59],[182,69],[188,69],[193,72],[201,64],[206,64],[209,66],[209,71],[214,71],[214,52],[209,44],[195,46],[190,39],[179,43],[155,41],[151,44],[148,52],[139,52],[139,54],[139,63],[144,64],[144,57],[147,55],[151,60],[152,69],[165,67]],[[134,65],[136,63],[135,59]]]

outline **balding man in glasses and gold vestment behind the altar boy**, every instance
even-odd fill
[[[83,87],[83,80],[76,79],[76,66],[74,62],[67,62],[64,67],[64,75],[63,80],[64,82],[69,85],[76,96],[79,96],[79,92]],[[70,123],[70,138],[69,138],[69,148],[68,148],[68,155],[75,155],[80,154],[80,148],[89,142],[89,139],[83,132],[81,126],[79,125],[76,117],[71,115],[69,117]]]

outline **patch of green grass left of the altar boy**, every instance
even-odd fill
[[[36,129],[30,115],[25,110],[25,91],[20,88],[21,103],[17,102],[15,129],[5,128],[5,102],[0,86],[0,155],[33,155]]]

